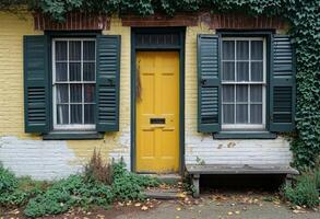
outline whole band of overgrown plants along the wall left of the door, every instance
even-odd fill
[[[125,163],[107,164],[100,152],[94,151],[83,174],[52,183],[17,178],[0,165],[0,206],[25,206],[29,218],[57,215],[72,207],[108,207],[115,200],[143,200],[143,189],[157,186],[157,180],[128,172]]]

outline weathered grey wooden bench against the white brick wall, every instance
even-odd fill
[[[286,184],[291,184],[293,175],[299,172],[285,165],[216,165],[216,164],[187,164],[188,174],[191,176],[194,188],[193,197],[200,196],[200,175],[237,175],[237,174],[283,174],[286,175]]]

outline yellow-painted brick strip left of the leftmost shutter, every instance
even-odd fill
[[[23,35],[37,34],[29,14],[0,12],[0,136],[25,136]]]

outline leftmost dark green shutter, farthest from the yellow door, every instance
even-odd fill
[[[46,36],[24,36],[25,132],[49,131],[48,47]]]

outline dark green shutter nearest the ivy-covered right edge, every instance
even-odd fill
[[[270,130],[295,128],[295,61],[289,36],[274,35],[271,49]]]

